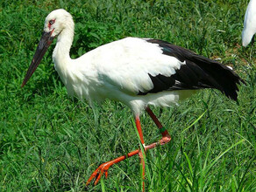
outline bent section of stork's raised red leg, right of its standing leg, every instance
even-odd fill
[[[155,116],[153,111],[148,106],[146,107],[146,112],[149,114],[149,116],[151,117],[151,119],[153,120],[155,125],[159,128],[160,134],[162,135],[162,138],[160,139],[159,142],[154,142],[154,143],[146,146],[146,149],[150,149],[150,148],[156,147],[158,145],[164,145],[167,142],[171,141],[171,136],[168,133],[167,129],[162,126],[160,121],[157,119],[157,117]]]

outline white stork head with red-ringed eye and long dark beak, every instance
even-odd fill
[[[74,22],[67,10],[53,10],[46,17],[42,37],[39,40],[38,48],[32,58],[32,63],[26,72],[21,87],[25,86],[28,79],[31,78],[32,73],[35,72],[36,68],[39,66],[47,48],[52,44],[53,38],[60,36],[62,31],[65,31],[67,28],[69,29],[68,31],[74,31]]]

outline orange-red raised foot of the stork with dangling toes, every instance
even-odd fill
[[[89,180],[86,182],[86,185],[89,185],[89,183],[96,178],[96,181],[94,182],[94,184],[96,185],[102,175],[105,175],[105,177],[108,177],[108,170],[110,168],[111,165],[113,165],[114,163],[112,161],[108,161],[108,162],[104,162],[103,164],[101,164],[98,168],[96,168],[96,170],[92,173],[92,175],[90,175]]]

